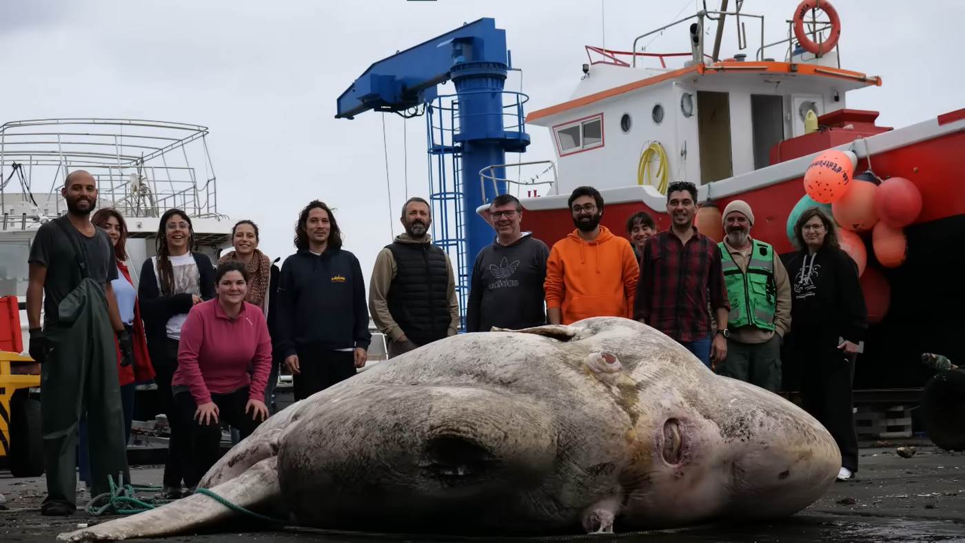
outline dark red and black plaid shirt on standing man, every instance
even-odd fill
[[[684,245],[673,231],[650,236],[640,263],[634,315],[677,341],[710,333],[709,308],[731,309],[721,254],[694,229]]]

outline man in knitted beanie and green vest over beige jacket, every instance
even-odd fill
[[[790,328],[790,281],[774,249],[751,238],[754,212],[742,200],[724,208],[727,237],[718,244],[731,301],[721,375],[772,393],[781,388],[781,342]]]

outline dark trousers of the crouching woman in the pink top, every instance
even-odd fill
[[[211,394],[211,401],[218,406],[218,422],[202,424],[195,421],[194,414],[198,404],[191,393],[175,394],[178,404],[182,438],[187,443],[187,455],[184,457],[184,486],[194,488],[207,470],[221,458],[221,421],[228,422],[238,429],[240,439],[244,439],[255,431],[262,421],[252,420],[252,414],[245,415],[244,408],[248,403],[248,387],[238,389],[229,394]]]

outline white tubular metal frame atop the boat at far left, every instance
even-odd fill
[[[60,215],[59,184],[69,172],[86,170],[96,179],[98,205],[125,216],[157,217],[179,206],[192,217],[220,217],[207,133],[199,124],[136,119],[4,123],[0,209],[11,215]],[[49,188],[41,188],[47,182]]]

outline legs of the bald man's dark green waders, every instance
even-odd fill
[[[52,350],[41,365],[41,433],[48,504],[76,506],[77,440],[84,413],[90,421],[92,492],[110,491],[108,475],[129,480],[117,352],[109,328],[103,334],[44,330]]]

